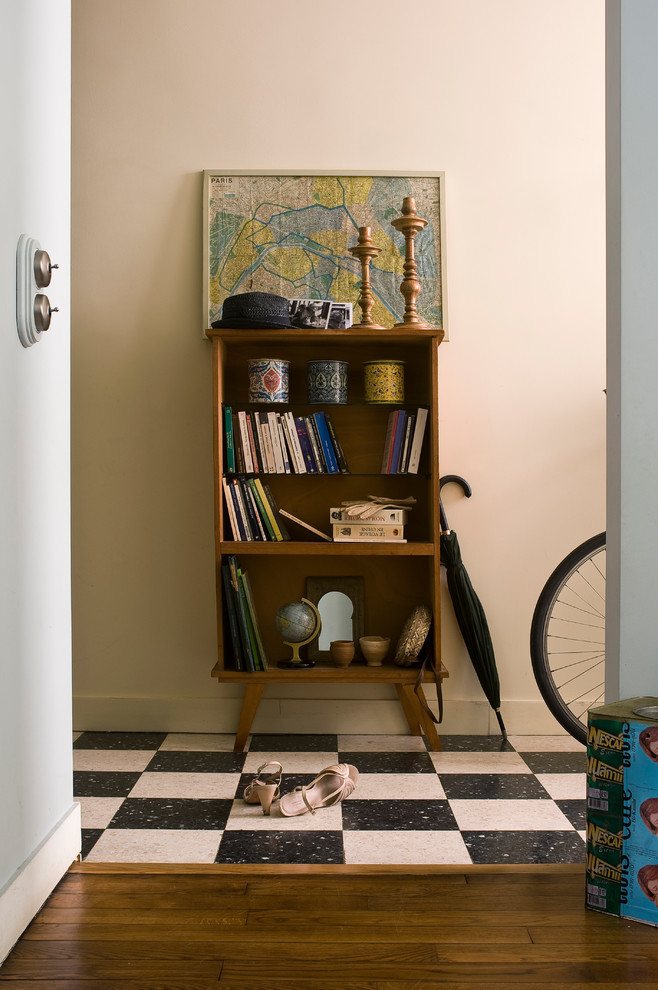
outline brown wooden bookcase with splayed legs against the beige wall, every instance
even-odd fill
[[[423,733],[431,748],[441,743],[434,723],[414,693],[417,669],[393,663],[395,644],[405,620],[415,605],[429,604],[433,610],[436,669],[441,664],[440,557],[439,557],[439,417],[438,348],[443,331],[380,330],[208,330],[213,364],[213,447],[215,485],[215,565],[217,593],[218,661],[212,676],[220,682],[243,683],[245,695],[236,731],[235,750],[242,751],[263,690],[271,683],[394,684],[410,731]],[[406,543],[328,543],[306,541],[303,531],[289,524],[290,542],[235,542],[224,506],[221,484],[224,473],[223,405],[252,408],[248,402],[250,358],[275,357],[290,361],[290,403],[260,410],[291,409],[304,415],[326,408],[345,452],[350,474],[267,474],[280,509],[287,509],[306,522],[331,532],[329,509],[346,499],[368,495],[405,498],[413,495],[416,505],[405,527]],[[391,408],[364,402],[363,362],[373,357],[405,362],[405,406],[415,411],[429,409],[418,474],[382,475],[381,460]],[[306,396],[306,363],[312,359],[336,358],[349,363],[348,403],[311,406]],[[310,534],[309,534],[310,536]],[[221,563],[235,554],[249,573],[259,625],[270,669],[247,673],[227,669],[224,643],[228,629],[222,598]],[[353,661],[347,668],[316,664],[313,668],[285,670],[277,660],[290,655],[281,642],[274,617],[281,605],[306,595],[309,576],[356,576],[364,580],[365,635],[389,636],[391,649],[382,667]],[[230,651],[229,655],[230,655]],[[431,674],[427,679],[433,681]],[[422,694],[422,688],[419,689]]]

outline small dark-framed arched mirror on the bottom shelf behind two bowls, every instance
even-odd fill
[[[361,660],[359,639],[364,632],[364,582],[362,577],[308,577],[306,597],[322,619],[322,631],[308,644],[309,660],[329,662],[329,643],[354,642],[354,659]]]

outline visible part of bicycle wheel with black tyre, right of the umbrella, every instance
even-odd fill
[[[605,533],[558,564],[537,600],[530,656],[537,686],[560,725],[587,742],[587,712],[605,690]]]

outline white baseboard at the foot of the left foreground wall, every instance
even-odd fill
[[[80,852],[80,805],[74,804],[0,893],[0,963]]]

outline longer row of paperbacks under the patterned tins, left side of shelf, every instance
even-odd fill
[[[224,406],[227,474],[349,474],[329,413],[234,410]]]

